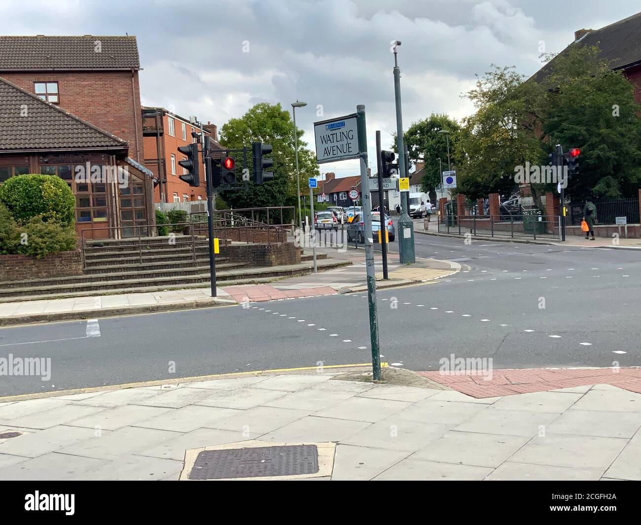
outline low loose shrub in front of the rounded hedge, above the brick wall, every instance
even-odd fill
[[[69,251],[76,249],[78,235],[71,226],[64,226],[51,219],[44,221],[42,215],[32,217],[24,226],[20,226],[20,233],[26,233],[24,244],[20,242],[17,253],[44,258],[49,253]],[[14,252],[15,253],[15,252]]]

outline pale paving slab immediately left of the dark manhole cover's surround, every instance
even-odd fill
[[[76,479],[109,481],[156,481],[183,470],[183,462],[133,454],[115,456],[110,462],[90,469]]]

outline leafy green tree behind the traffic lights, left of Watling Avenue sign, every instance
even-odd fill
[[[302,140],[303,130],[296,130],[298,135],[298,163],[301,173],[301,187],[307,187],[308,177],[319,175],[315,154],[307,149]],[[294,122],[290,113],[283,110],[281,104],[258,103],[250,108],[240,119],[231,119],[221,128],[220,142],[226,149],[249,148],[249,171],[251,165],[251,142],[271,144],[274,160],[271,171],[274,179],[256,186],[249,182],[249,191],[226,191],[222,194],[224,201],[233,208],[262,208],[265,206],[297,205],[296,158],[294,153]],[[238,156],[237,156],[238,161]],[[288,217],[287,220],[292,217]]]

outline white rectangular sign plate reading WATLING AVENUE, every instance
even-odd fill
[[[356,113],[314,122],[316,138],[316,162],[335,162],[358,158],[358,131],[356,130]]]

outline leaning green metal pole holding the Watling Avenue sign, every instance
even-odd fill
[[[361,165],[361,188],[363,199],[363,222],[365,222],[365,269],[367,270],[367,303],[369,306],[369,331],[372,342],[372,372],[374,381],[381,379],[381,351],[378,339],[378,312],[376,310],[376,269],[374,267],[374,235],[372,234],[372,196],[367,176],[367,129],[365,106],[356,106],[358,151]],[[379,191],[382,185],[379,186]]]

